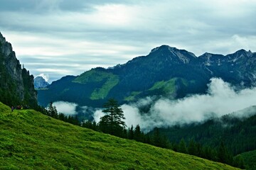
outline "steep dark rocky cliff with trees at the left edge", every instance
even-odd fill
[[[37,106],[33,87],[33,75],[21,68],[11,44],[0,33],[0,101],[9,106]]]

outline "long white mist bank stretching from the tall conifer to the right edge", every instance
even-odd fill
[[[151,105],[148,113],[140,113],[139,108]],[[213,117],[236,112],[238,118],[246,116],[242,109],[256,104],[256,88],[236,90],[222,79],[210,79],[206,94],[195,94],[178,100],[144,98],[137,103],[124,104],[125,123],[128,127],[139,124],[148,132],[155,127],[167,128],[172,125],[201,123]],[[239,112],[237,112],[239,111]],[[245,110],[246,111],[246,110]],[[100,110],[93,117],[98,122],[104,115]]]

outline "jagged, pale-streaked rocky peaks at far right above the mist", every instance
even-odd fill
[[[251,51],[238,50],[230,55],[213,55],[205,53],[198,57],[213,77],[243,86],[254,86],[256,78],[256,54]]]

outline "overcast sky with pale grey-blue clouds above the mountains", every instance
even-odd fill
[[[256,51],[256,0],[0,0],[0,31],[48,81],[124,64],[160,45]]]

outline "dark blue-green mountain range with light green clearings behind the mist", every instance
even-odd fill
[[[108,98],[119,103],[137,101],[145,96],[182,98],[206,93],[210,78],[220,77],[230,84],[248,87],[256,79],[256,53],[238,50],[230,55],[192,52],[161,45],[149,55],[126,64],[104,69],[97,67],[54,81],[47,90],[38,90],[38,102],[69,101],[80,106],[101,107]]]

